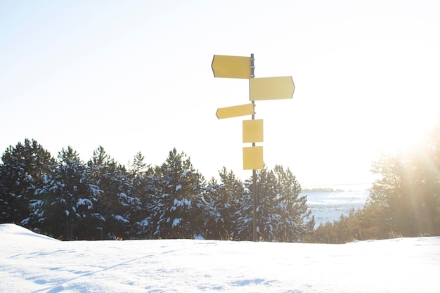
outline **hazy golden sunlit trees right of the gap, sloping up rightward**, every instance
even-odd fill
[[[418,148],[384,153],[371,171],[377,180],[363,208],[321,224],[313,242],[440,235],[440,123]]]

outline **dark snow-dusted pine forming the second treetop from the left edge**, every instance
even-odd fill
[[[63,240],[88,239],[93,205],[100,190],[88,182],[86,166],[70,146],[58,152],[58,165],[39,188],[34,214],[46,233]]]

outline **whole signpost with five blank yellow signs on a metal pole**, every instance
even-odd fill
[[[252,103],[217,109],[219,119],[252,115],[252,120],[243,121],[243,143],[252,143],[243,148],[243,169],[252,170],[252,226],[253,240],[257,241],[257,172],[264,169],[263,119],[255,119],[256,100],[290,99],[295,91],[292,77],[254,78],[254,54],[249,57],[214,55],[212,59],[214,77],[249,79],[249,98]]]

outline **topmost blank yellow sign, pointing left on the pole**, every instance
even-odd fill
[[[214,55],[214,77],[250,78],[250,57]]]

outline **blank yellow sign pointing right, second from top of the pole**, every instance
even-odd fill
[[[280,100],[292,98],[295,91],[292,77],[249,79],[250,100]]]

